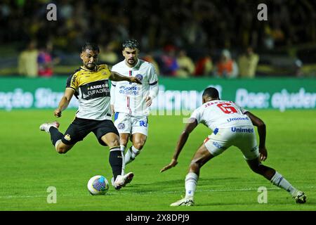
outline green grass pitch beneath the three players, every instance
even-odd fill
[[[184,195],[184,178],[193,153],[210,133],[199,125],[189,137],[178,165],[166,172],[182,131],[182,116],[150,116],[143,152],[126,172],[134,172],[131,184],[119,191],[110,186],[107,195],[93,196],[86,189],[91,176],[112,176],[109,150],[89,134],[65,155],[39,131],[42,122],[55,120],[53,110],[0,111],[0,209],[1,210],[316,210],[316,111],[253,110],[267,124],[268,160],[291,184],[305,191],[308,203],[298,205],[291,196],[251,172],[237,148],[209,161],[199,178],[194,207],[169,207]],[[65,110],[58,118],[64,132],[74,118]],[[57,203],[47,203],[53,186]],[[260,186],[268,189],[268,203],[259,204]]]

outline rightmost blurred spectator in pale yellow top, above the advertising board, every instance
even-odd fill
[[[246,48],[246,51],[238,58],[239,77],[254,78],[256,76],[258,61],[258,54],[254,53],[251,47]]]

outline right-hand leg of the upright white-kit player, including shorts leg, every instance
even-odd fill
[[[131,117],[131,141],[133,145],[126,151],[125,164],[129,164],[140,154],[147,140],[147,116]]]

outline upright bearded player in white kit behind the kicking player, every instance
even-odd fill
[[[126,77],[137,77],[142,85],[131,82],[112,82],[111,105],[114,125],[124,151],[129,138],[132,146],[126,151],[125,165],[132,162],[143,148],[148,134],[147,116],[152,100],[158,93],[158,78],[154,66],[138,58],[139,44],[134,39],[122,44],[124,60],[112,67],[112,71]]]

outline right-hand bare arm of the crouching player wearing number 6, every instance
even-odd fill
[[[256,117],[254,114],[250,112],[246,112],[245,114],[250,118],[252,124],[258,127],[260,160],[265,161],[268,158],[268,151],[265,148],[265,123],[259,117]]]

